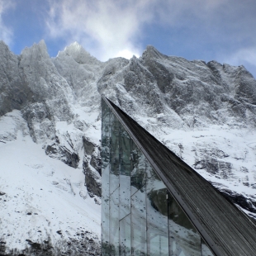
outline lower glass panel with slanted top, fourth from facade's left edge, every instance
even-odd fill
[[[145,186],[131,197],[131,255],[146,255]]]

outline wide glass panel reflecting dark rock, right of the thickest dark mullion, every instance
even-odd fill
[[[201,237],[168,193],[169,250],[173,256],[201,256]]]

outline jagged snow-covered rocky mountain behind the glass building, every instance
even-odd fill
[[[256,80],[243,66],[153,46],[102,63],[73,43],[50,58],[44,41],[21,55],[1,41],[0,60],[0,254],[98,254],[101,94],[256,217]]]

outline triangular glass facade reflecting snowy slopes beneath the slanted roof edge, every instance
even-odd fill
[[[104,100],[102,255],[213,256]]]

